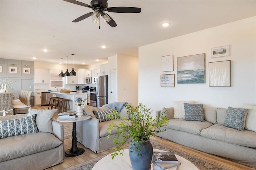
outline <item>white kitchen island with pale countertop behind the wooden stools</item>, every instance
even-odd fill
[[[56,95],[56,97],[60,97],[60,98],[63,98],[63,99],[70,99],[70,110],[71,111],[76,111],[77,110],[77,107],[78,105],[75,105],[75,102],[74,102],[74,99],[76,97],[82,97],[82,99],[86,99],[86,101],[84,102],[84,105],[87,104],[87,93],[79,93],[79,92],[70,92],[70,93],[60,93],[59,91],[58,92],[55,92],[55,91],[52,91],[50,93],[53,93]],[[82,105],[82,107],[84,107],[84,105]]]

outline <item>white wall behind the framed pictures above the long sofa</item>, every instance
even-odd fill
[[[230,55],[210,58],[212,47],[230,44]],[[206,54],[204,84],[177,84],[177,57]],[[162,72],[161,57],[174,55],[174,71]],[[209,87],[208,63],[231,60],[231,87]],[[175,87],[160,87],[161,74],[175,73]],[[256,105],[256,16],[139,47],[139,103],[152,115],[172,101],[211,107]]]

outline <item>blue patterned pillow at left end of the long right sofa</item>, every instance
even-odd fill
[[[205,121],[203,104],[184,103],[184,109],[185,121]]]

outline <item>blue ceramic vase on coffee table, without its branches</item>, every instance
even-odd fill
[[[137,146],[140,146],[141,148],[140,152],[134,149]],[[138,153],[141,153],[142,156],[138,155]],[[129,145],[129,156],[130,156],[130,161],[132,163],[132,170],[148,170],[150,168],[152,155],[153,155],[153,146],[149,142],[149,140],[142,143],[131,142]]]

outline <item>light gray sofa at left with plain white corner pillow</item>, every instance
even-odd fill
[[[63,125],[51,120],[53,112],[56,111],[36,110],[29,113],[37,114],[39,132],[0,139],[0,169],[43,170],[63,162]],[[0,116],[0,121],[20,119],[29,114]]]

